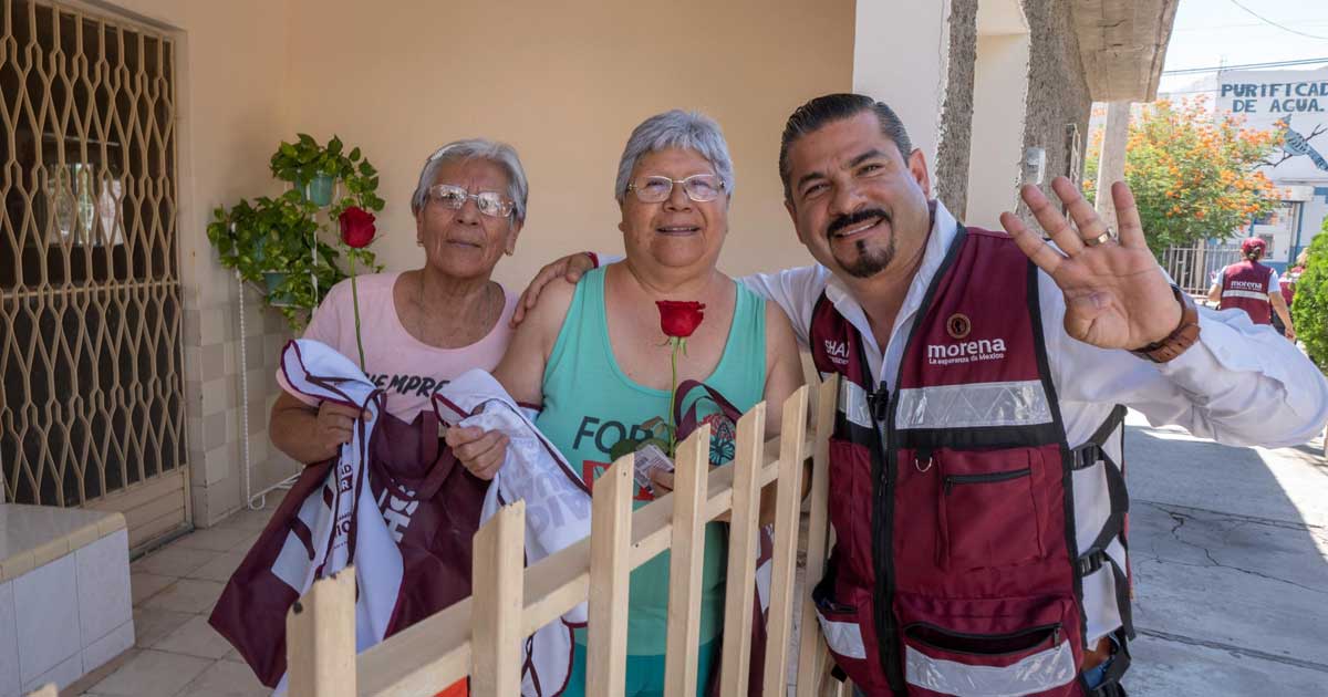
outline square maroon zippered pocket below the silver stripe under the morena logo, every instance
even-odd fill
[[[1045,556],[1035,494],[1035,450],[946,451],[942,475],[939,566],[950,571],[1008,567]]]

